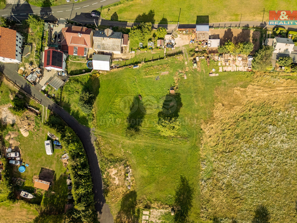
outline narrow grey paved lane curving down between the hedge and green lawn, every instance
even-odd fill
[[[18,69],[18,64],[4,65],[3,63],[0,63],[0,67],[2,68],[6,77],[21,87],[26,93],[39,100],[43,106],[48,107],[58,116],[60,116],[78,135],[82,141],[83,147],[87,154],[88,163],[90,165],[95,209],[98,211],[98,217],[100,218],[99,220],[101,223],[113,223],[113,217],[110,213],[108,205],[105,203],[105,198],[103,195],[102,176],[93,144],[96,138],[92,132],[92,129],[78,123],[78,121],[75,120],[75,118],[73,118],[67,111],[55,104],[52,100],[48,99],[41,92],[39,92],[37,88],[30,85],[24,78],[22,78],[16,71]]]

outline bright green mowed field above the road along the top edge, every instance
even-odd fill
[[[154,10],[153,20],[155,23],[166,20],[168,23],[177,23],[178,19],[180,24],[205,23],[208,22],[208,19],[209,22],[240,21],[240,19],[241,21],[262,22],[264,8],[264,21],[268,21],[269,10],[290,10],[288,7],[297,8],[297,2],[293,0],[252,2],[239,0],[175,0],[171,2],[165,0],[134,0],[114,7],[105,7],[102,9],[102,17],[111,19],[116,14],[119,21],[133,22],[138,15]]]

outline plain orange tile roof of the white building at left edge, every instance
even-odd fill
[[[0,56],[15,59],[16,31],[0,27]]]

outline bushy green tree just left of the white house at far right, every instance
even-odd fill
[[[272,46],[264,46],[263,48],[259,49],[254,56],[254,60],[252,61],[252,67],[255,70],[266,70],[271,64],[271,57],[272,57]]]

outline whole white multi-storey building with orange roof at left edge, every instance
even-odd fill
[[[22,62],[21,34],[12,29],[0,27],[0,61],[3,63]]]

